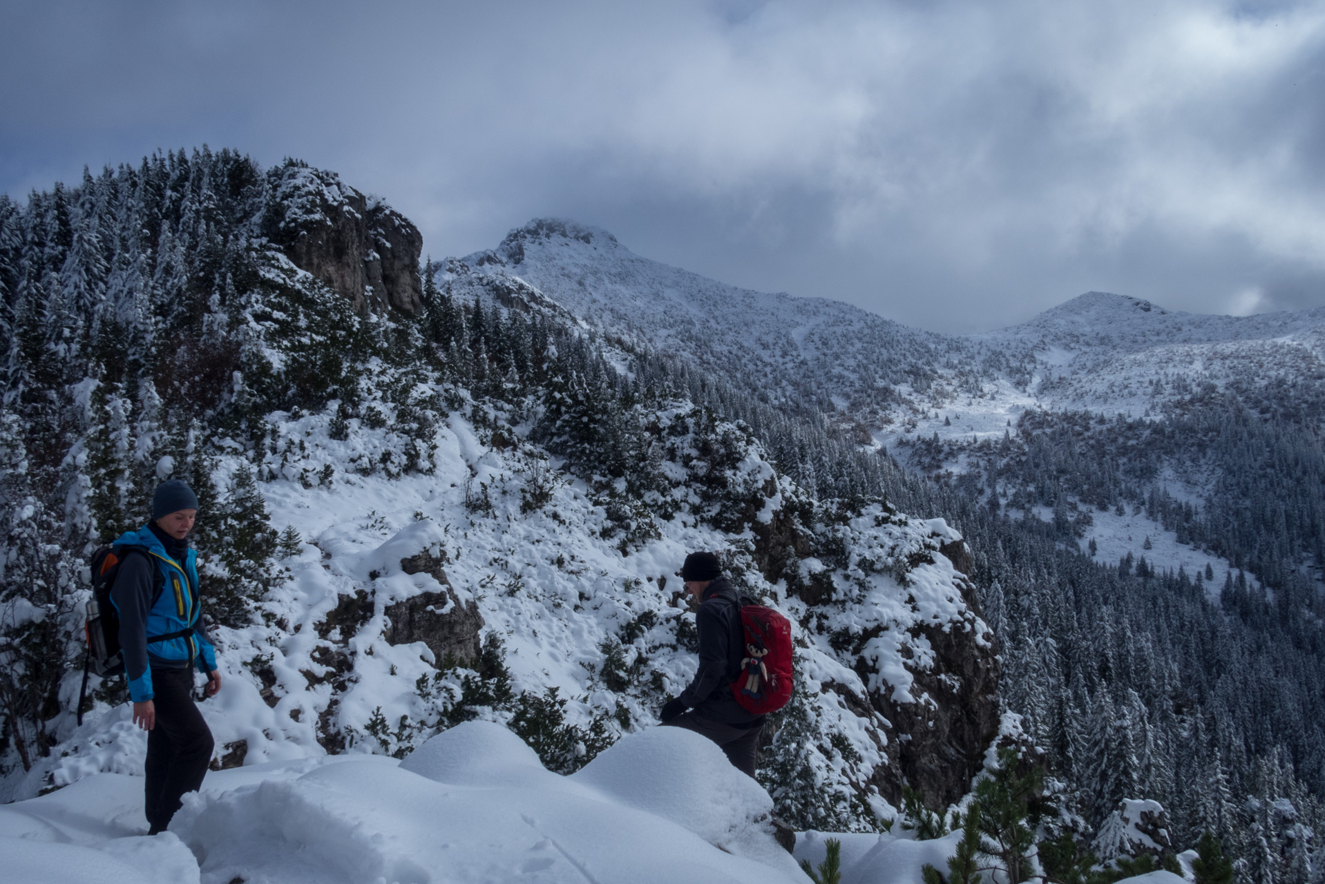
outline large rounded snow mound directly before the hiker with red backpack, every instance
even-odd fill
[[[621,737],[571,781],[686,828],[737,856],[783,868],[796,863],[772,834],[772,799],[731,766],[717,744],[682,728]]]

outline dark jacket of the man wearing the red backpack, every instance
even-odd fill
[[[700,632],[700,671],[680,700],[713,721],[762,722],[763,716],[751,714],[731,696],[731,681],[741,673],[745,657],[745,631],[741,628],[741,596],[725,577],[704,591],[694,623]]]

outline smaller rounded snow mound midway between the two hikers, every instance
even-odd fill
[[[443,730],[409,753],[400,769],[454,786],[555,786],[563,779],[543,767],[523,740],[490,721]]]

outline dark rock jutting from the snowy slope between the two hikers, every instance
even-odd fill
[[[450,655],[456,663],[477,660],[482,652],[478,631],[484,618],[474,602],[461,604],[441,569],[441,561],[428,551],[400,559],[405,574],[431,574],[444,587],[441,592],[420,592],[386,610],[390,644],[423,641],[433,652],[436,663]],[[443,614],[448,604],[450,610]]]

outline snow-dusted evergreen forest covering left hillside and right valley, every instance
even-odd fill
[[[424,269],[417,314],[355,311],[293,285],[297,269],[272,249],[311,190],[338,187],[294,160],[264,171],[204,148],[85,174],[26,204],[0,196],[7,757],[28,765],[68,726],[57,721],[81,667],[85,557],[143,517],[159,478],[211,493],[223,439],[245,447],[252,469],[204,500],[217,517],[196,538],[200,571],[219,620],[252,615],[280,543],[261,481],[299,460],[269,412],[335,402],[342,424],[386,423],[364,403],[390,402],[394,444],[354,468],[399,476],[425,468],[432,428],[461,404],[417,395],[420,378],[507,403],[537,388],[535,439],[584,474],[640,485],[655,473],[637,468],[636,406],[681,396],[743,421],[822,501],[885,498],[963,533],[1002,648],[1003,704],[1047,750],[1083,838],[1121,799],[1153,798],[1175,844],[1215,832],[1243,881],[1320,880],[1325,863],[1308,868],[1325,798],[1325,453],[1301,391],[1268,410],[1259,387],[1255,402],[1194,392],[1145,420],[1031,412],[1002,444],[914,443],[912,463],[928,468],[910,474],[863,449],[823,403],[772,407],[555,311],[486,310],[456,265],[440,265],[453,278],[441,285],[437,266]],[[621,360],[629,374],[611,367]],[[1165,470],[1208,476],[1207,498],[1174,498]],[[611,510],[623,541],[647,530],[631,509],[647,490]],[[1097,562],[1076,537],[1104,508],[1141,509],[1242,574],[1212,588],[1143,558]]]

